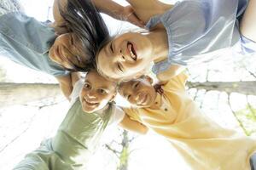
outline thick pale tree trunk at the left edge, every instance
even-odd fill
[[[28,102],[59,97],[58,84],[0,83],[0,108],[9,105],[25,105]]]

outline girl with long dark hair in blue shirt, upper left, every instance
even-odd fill
[[[73,89],[69,71],[89,70],[99,44],[108,39],[102,16],[90,0],[56,0],[54,29],[20,13],[15,8],[18,3],[0,2],[0,54],[56,77],[68,98]],[[118,5],[109,10],[114,8],[124,16],[132,10],[121,10]],[[128,18],[136,21],[131,15]]]

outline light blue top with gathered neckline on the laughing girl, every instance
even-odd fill
[[[237,19],[246,7],[247,0],[184,0],[165,14],[152,17],[146,27],[150,30],[161,22],[169,45],[167,59],[156,63],[153,72],[166,71],[170,65],[208,61],[219,49],[244,43]]]

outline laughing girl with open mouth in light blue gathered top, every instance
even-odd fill
[[[235,44],[243,53],[256,51],[255,0],[184,0],[175,5],[156,0],[127,2],[149,31],[119,35],[101,48],[96,63],[106,77],[141,76],[154,61],[153,72],[168,79],[182,66],[213,59]]]

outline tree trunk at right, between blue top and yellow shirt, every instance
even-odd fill
[[[207,91],[223,91],[228,94],[239,93],[256,95],[256,81],[251,82],[188,82],[189,88],[205,89]]]

